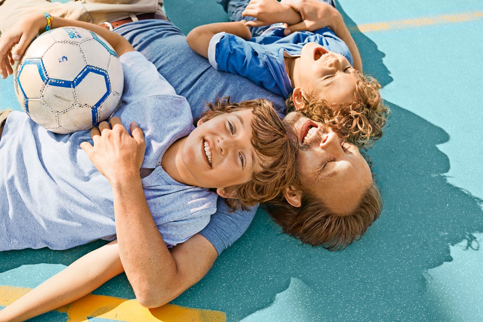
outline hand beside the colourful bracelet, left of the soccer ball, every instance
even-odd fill
[[[47,19],[43,14],[29,14],[1,35],[0,75],[3,79],[12,75],[12,65],[20,60],[30,42],[45,29],[46,25]]]

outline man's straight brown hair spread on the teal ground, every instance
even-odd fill
[[[303,192],[301,206],[290,205],[283,195],[265,205],[275,223],[284,233],[300,239],[304,244],[323,246],[329,251],[345,248],[364,234],[381,214],[381,192],[373,176],[358,206],[349,214],[336,214],[320,199]]]

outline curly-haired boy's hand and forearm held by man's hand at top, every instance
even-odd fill
[[[247,27],[268,26],[279,22],[293,25],[301,21],[300,14],[277,0],[250,0],[241,15],[258,19],[247,21],[245,24]]]

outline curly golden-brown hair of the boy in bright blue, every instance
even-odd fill
[[[372,77],[363,75],[355,85],[356,101],[350,105],[331,104],[322,98],[303,98],[303,115],[332,128],[334,132],[358,147],[370,148],[383,136],[383,127],[389,108],[379,94],[381,85]],[[286,100],[289,111],[295,110],[293,97]]]

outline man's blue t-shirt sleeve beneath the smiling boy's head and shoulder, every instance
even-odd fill
[[[256,208],[250,211],[239,209],[230,213],[225,199],[218,198],[216,212],[211,215],[210,222],[199,234],[212,243],[219,255],[247,230],[255,216]]]

